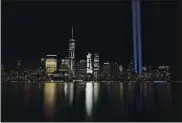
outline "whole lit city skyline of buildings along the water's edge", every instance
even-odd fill
[[[159,66],[156,70],[151,67],[142,67],[142,73],[135,71],[134,62],[131,61],[124,70],[121,64],[115,62],[100,62],[98,53],[88,52],[84,59],[76,60],[75,39],[72,27],[72,36],[69,40],[68,56],[60,59],[57,55],[46,55],[40,59],[38,68],[22,69],[22,61],[17,61],[17,71],[8,76],[2,65],[2,78],[5,80],[83,80],[83,81],[125,81],[125,80],[168,80],[170,78],[169,66]]]

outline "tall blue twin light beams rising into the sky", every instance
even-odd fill
[[[132,0],[134,70],[142,72],[140,0]]]

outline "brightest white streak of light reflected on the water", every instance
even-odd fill
[[[86,111],[87,115],[92,115],[92,107],[93,107],[93,83],[86,83]]]

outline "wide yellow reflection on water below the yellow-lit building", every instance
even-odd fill
[[[52,119],[56,104],[56,83],[44,84],[44,115],[47,119]]]

